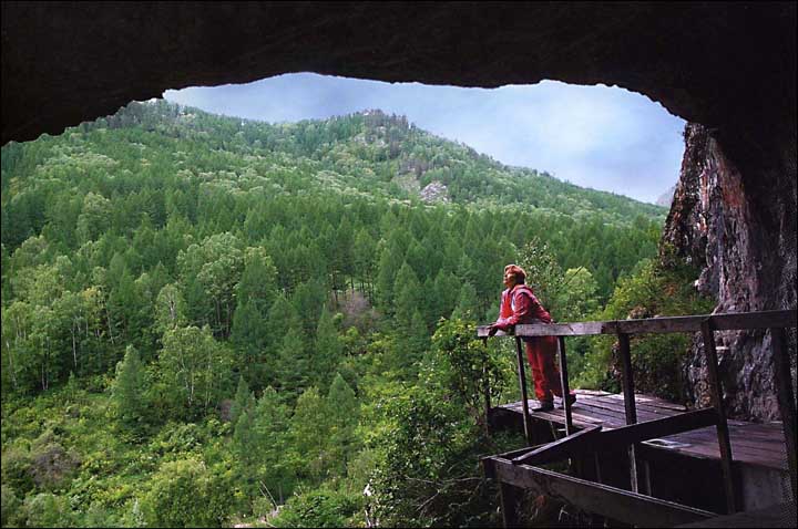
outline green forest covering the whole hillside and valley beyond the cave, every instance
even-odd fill
[[[134,102],[3,146],[0,205],[3,527],[493,526],[503,267],[560,322],[712,307],[665,209],[380,111]],[[684,340],[633,348],[642,390],[682,397]],[[612,342],[567,354],[617,390]]]

